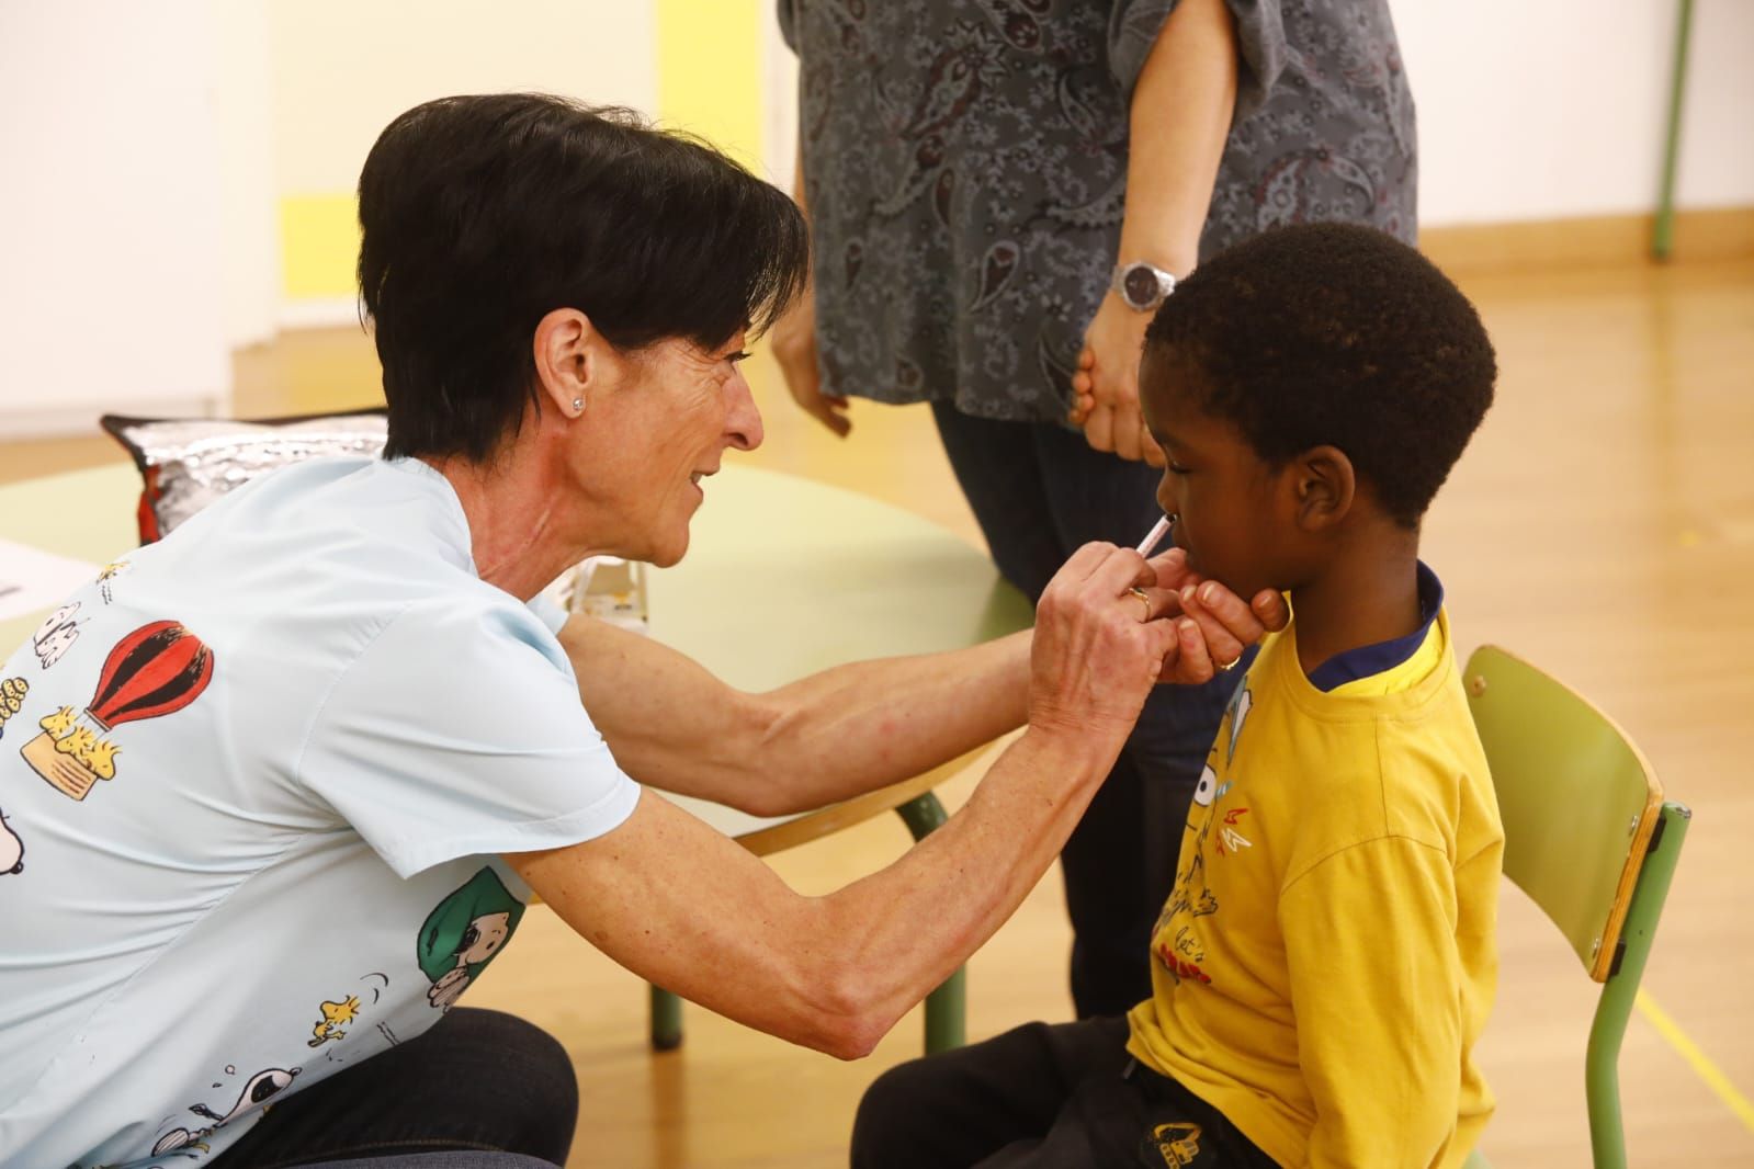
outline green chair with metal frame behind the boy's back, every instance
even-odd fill
[[[1491,645],[1463,678],[1498,789],[1505,875],[1601,983],[1584,1057],[1589,1144],[1598,1169],[1624,1169],[1621,1039],[1693,813],[1666,803],[1626,733],[1561,682]]]

